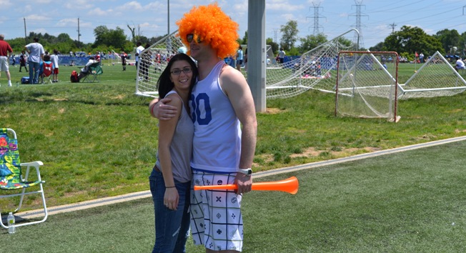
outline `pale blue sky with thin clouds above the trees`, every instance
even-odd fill
[[[94,42],[94,28],[117,26],[129,36],[127,25],[139,27],[147,37],[175,31],[175,21],[194,5],[209,4],[212,0],[170,0],[169,28],[167,25],[168,0],[162,1],[117,1],[117,0],[0,0],[0,34],[6,39],[24,37],[26,34],[49,33],[57,36],[67,33],[80,40]],[[222,9],[239,23],[239,35],[247,30],[248,0],[218,0]],[[266,37],[280,40],[280,27],[290,19],[297,21],[299,36],[314,32],[314,16],[318,11],[319,31],[332,39],[357,26],[357,9],[360,9],[360,24],[363,46],[374,46],[402,26],[417,26],[427,34],[442,29],[466,31],[466,1],[453,0],[265,0]],[[358,8],[357,5],[360,7]],[[315,7],[315,8],[314,8]]]

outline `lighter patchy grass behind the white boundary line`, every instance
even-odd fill
[[[406,69],[405,69],[406,68]],[[413,64],[401,64],[410,75]],[[134,66],[104,64],[101,82],[71,84],[76,66],[60,66],[57,84],[16,81],[25,72],[11,68],[14,87],[0,77],[0,126],[19,135],[21,161],[41,160],[47,204],[81,202],[149,189],[157,147],[157,120],[149,98],[135,96]],[[402,119],[334,117],[334,94],[308,91],[267,101],[257,114],[254,170],[265,171],[380,149],[466,135],[466,94],[410,99],[399,104]],[[29,198],[24,209],[39,207]],[[12,203],[0,200],[2,213]]]

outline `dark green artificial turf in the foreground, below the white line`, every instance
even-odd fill
[[[466,142],[261,178],[299,192],[243,198],[243,252],[465,252]],[[258,181],[258,180],[257,180]],[[152,199],[0,231],[1,252],[150,252]],[[187,252],[205,252],[187,243]]]

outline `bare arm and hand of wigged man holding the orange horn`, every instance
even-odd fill
[[[220,74],[220,85],[232,103],[234,112],[242,124],[241,156],[239,169],[252,167],[257,139],[257,119],[252,98],[251,89],[241,72],[232,67],[225,67]],[[237,193],[250,192],[252,178],[242,173],[237,173],[235,182],[238,186]]]

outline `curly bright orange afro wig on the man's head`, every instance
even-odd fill
[[[194,34],[194,39],[201,39],[202,42],[210,44],[221,59],[234,55],[239,47],[239,25],[224,14],[217,3],[194,6],[177,21],[177,25],[178,36],[185,45],[189,45],[187,34]]]

